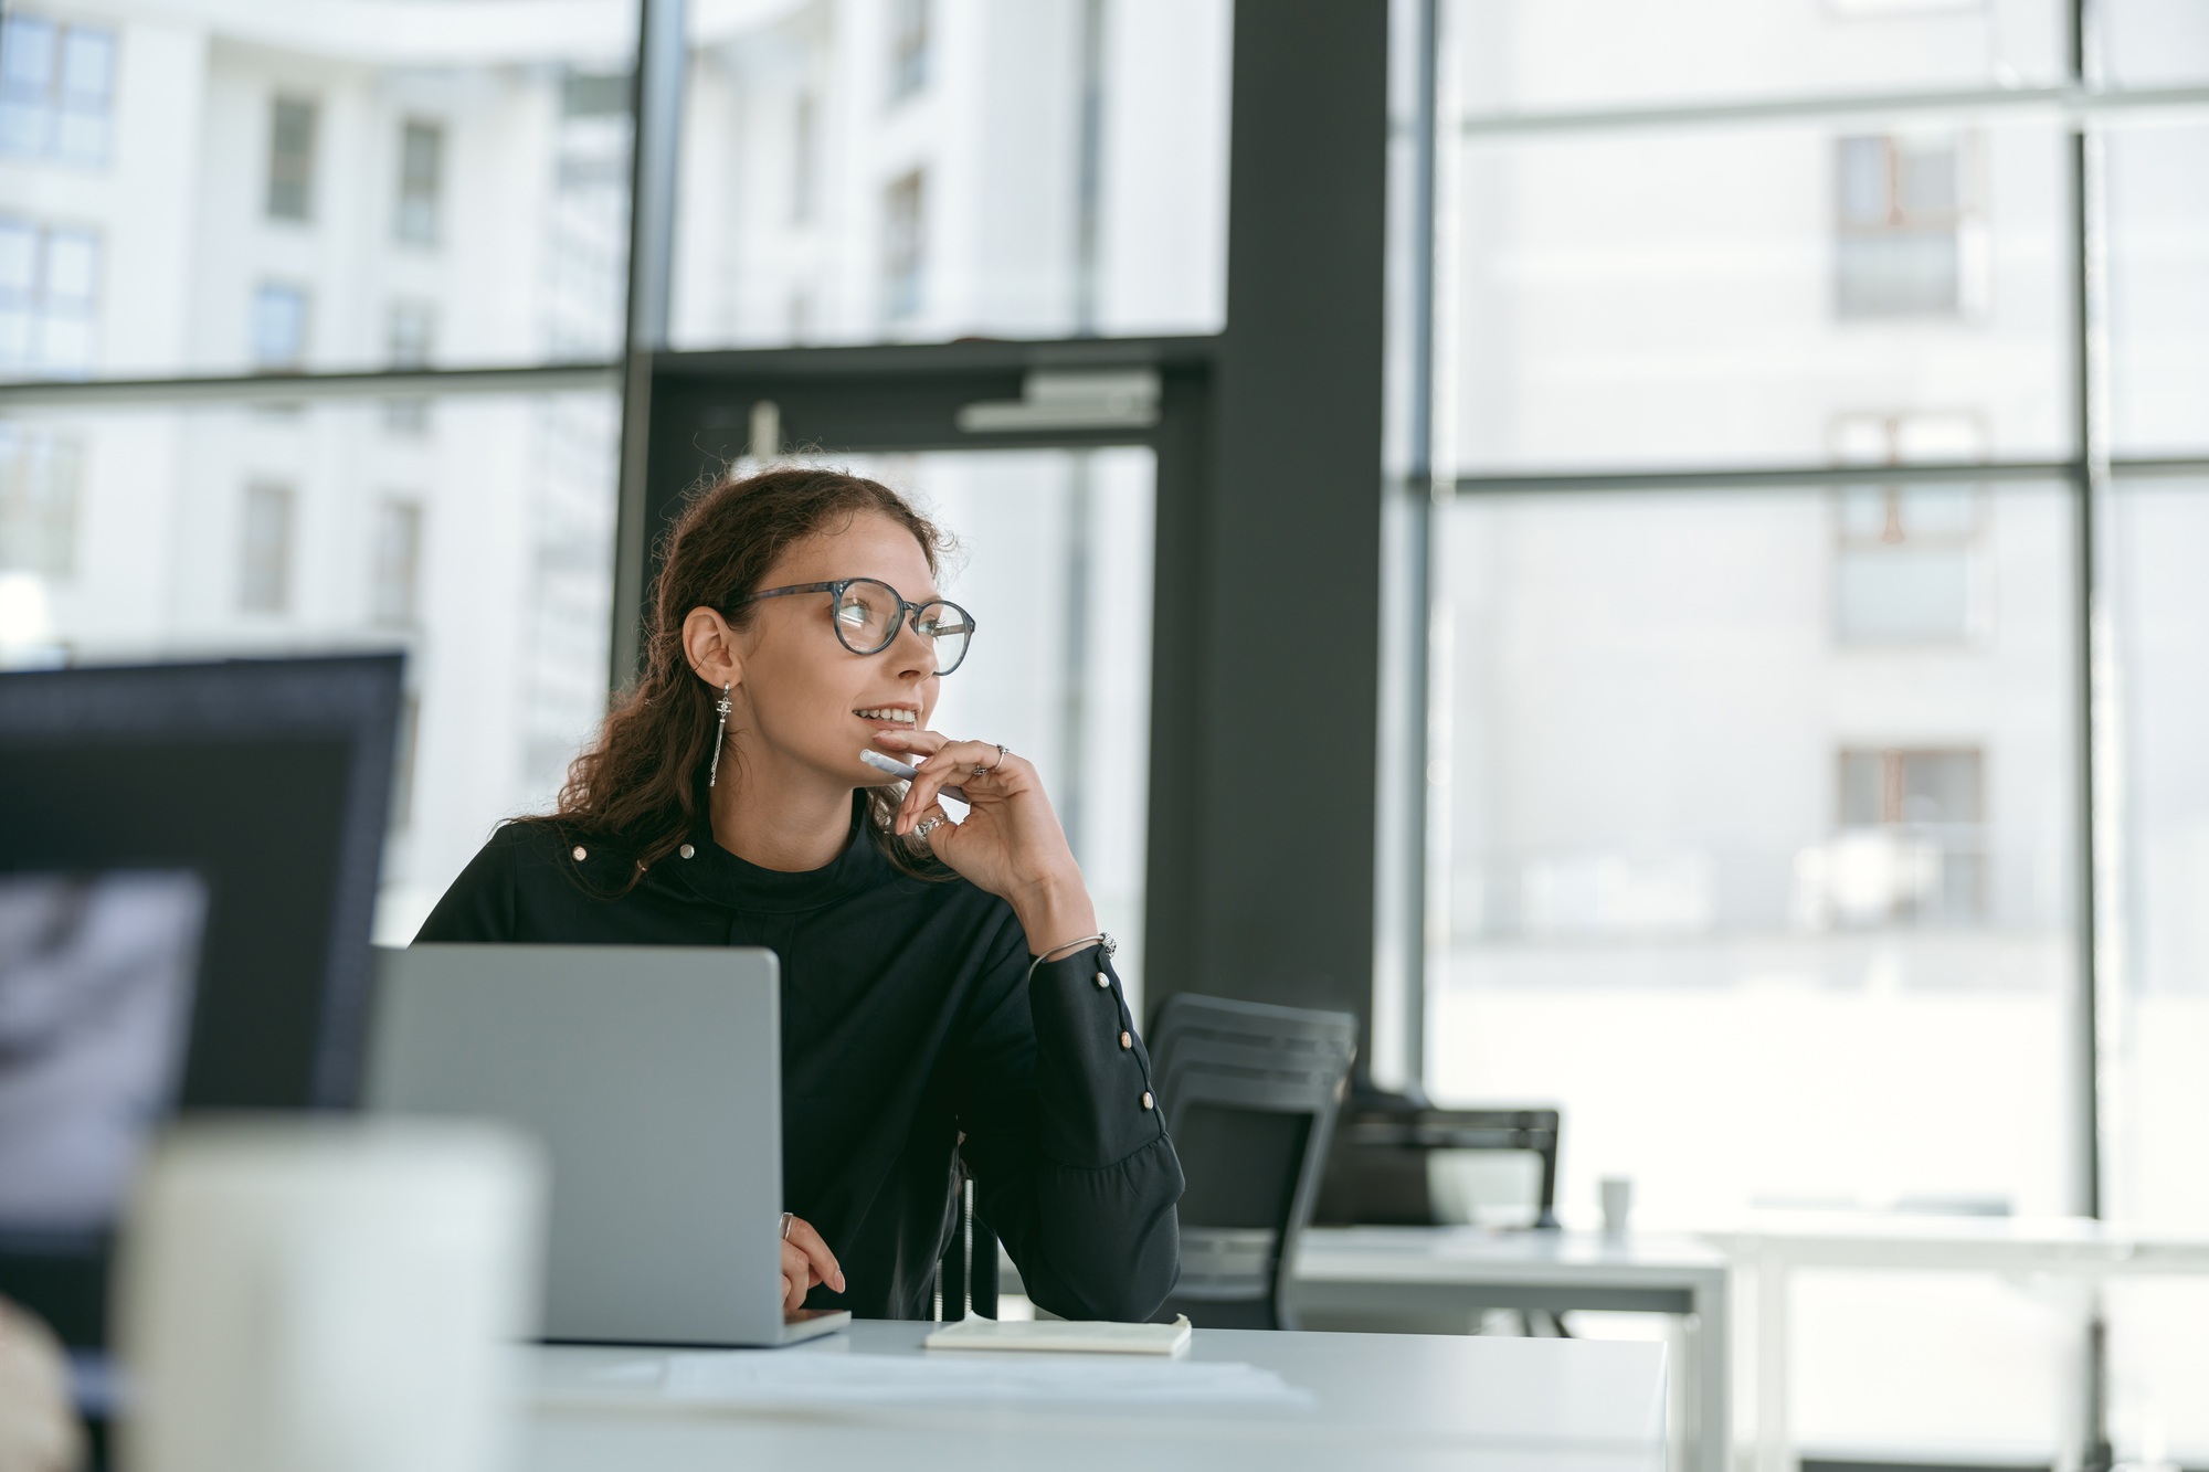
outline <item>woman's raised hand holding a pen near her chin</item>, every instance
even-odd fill
[[[959,875],[1012,904],[1032,953],[1096,935],[1089,886],[1027,758],[990,740],[952,740],[939,732],[879,732],[875,745],[926,756],[915,763],[919,776],[897,809],[899,833],[926,818],[945,818],[937,796],[945,787],[965,789],[965,822],[930,824],[928,847]]]

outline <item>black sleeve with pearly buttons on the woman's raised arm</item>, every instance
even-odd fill
[[[1180,1275],[1182,1198],[1151,1056],[1102,948],[1045,961],[1023,986],[1027,944],[1010,928],[996,1003],[968,1039],[959,1149],[976,1216],[1043,1308],[1149,1319]]]

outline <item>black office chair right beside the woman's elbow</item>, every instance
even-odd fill
[[[1356,1056],[1347,1012],[1169,997],[1151,1079],[1182,1158],[1182,1280],[1164,1315],[1294,1328],[1288,1275],[1312,1220],[1328,1134]]]

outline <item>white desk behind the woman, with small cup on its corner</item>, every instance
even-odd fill
[[[1297,1311],[1405,1315],[1480,1308],[1692,1315],[1690,1465],[1725,1472],[1732,1441],[1727,1255],[1699,1238],[1478,1227],[1312,1227],[1299,1238]]]

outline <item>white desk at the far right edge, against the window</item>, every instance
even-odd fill
[[[1787,1213],[1708,1233],[1756,1269],[1756,1472],[1794,1472],[1787,1428],[1787,1297],[1796,1269],[1924,1273],[2054,1273],[2105,1280],[2132,1273],[2209,1275],[2209,1238],[2112,1227],[2079,1216],[1849,1216]]]

